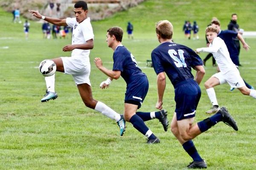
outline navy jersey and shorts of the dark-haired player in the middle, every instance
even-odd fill
[[[125,103],[138,105],[140,108],[148,93],[147,76],[140,70],[134,56],[125,46],[117,46],[113,61],[113,71],[121,71],[121,77],[127,84]]]

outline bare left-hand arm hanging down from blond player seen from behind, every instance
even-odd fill
[[[158,93],[158,100],[157,100],[157,104],[156,104],[156,108],[157,109],[162,109],[163,108],[163,94],[164,94],[164,90],[166,87],[166,76],[165,73],[159,73],[157,75],[157,93]]]

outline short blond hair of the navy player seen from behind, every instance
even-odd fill
[[[159,21],[156,24],[156,33],[163,39],[172,39],[173,26],[168,20]]]

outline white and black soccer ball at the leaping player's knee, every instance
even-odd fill
[[[45,59],[39,65],[39,71],[44,76],[52,76],[56,71],[56,64],[52,60]]]

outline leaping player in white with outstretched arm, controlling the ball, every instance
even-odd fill
[[[79,90],[79,94],[88,108],[92,108],[101,112],[103,115],[116,120],[120,128],[120,135],[125,131],[125,120],[123,115],[120,115],[109,108],[102,102],[93,99],[92,90],[90,87],[90,49],[93,49],[93,28],[90,24],[90,18],[87,17],[87,3],[78,1],[74,6],[75,18],[58,19],[45,17],[38,11],[29,11],[33,16],[46,20],[49,23],[58,26],[73,27],[72,45],[66,45],[62,51],[72,51],[71,57],[58,57],[52,59],[56,64],[56,71],[71,74]],[[47,85],[47,93],[41,102],[47,102],[50,99],[58,97],[55,93],[55,74],[50,77],[45,77]]]

